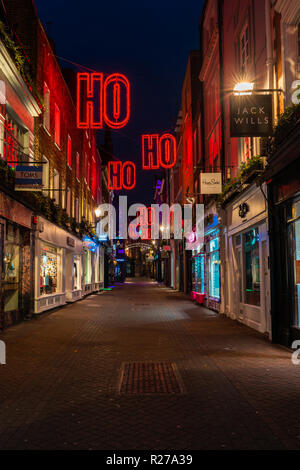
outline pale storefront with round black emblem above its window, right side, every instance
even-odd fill
[[[226,313],[270,334],[266,187],[252,185],[226,207]]]

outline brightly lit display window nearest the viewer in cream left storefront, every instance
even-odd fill
[[[57,248],[51,245],[41,244],[40,295],[59,292],[60,258],[61,255]]]

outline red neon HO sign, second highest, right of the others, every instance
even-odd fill
[[[172,168],[177,159],[176,139],[172,134],[143,134],[142,158],[144,170]]]

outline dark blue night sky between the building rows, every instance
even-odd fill
[[[140,136],[174,130],[188,54],[199,49],[203,0],[35,0],[35,4],[58,56],[128,77],[131,118],[126,127],[113,131],[115,154],[139,167],[136,188],[124,194],[131,202],[151,204],[154,172],[140,169]],[[70,67],[64,61],[61,65]]]

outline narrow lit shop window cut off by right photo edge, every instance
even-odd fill
[[[292,260],[293,324],[300,328],[300,201],[292,205],[291,220],[288,230]]]

